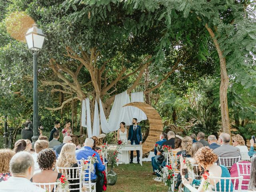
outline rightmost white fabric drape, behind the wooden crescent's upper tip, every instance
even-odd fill
[[[144,102],[143,96],[144,96],[143,92],[135,92],[131,94],[131,100],[132,102]],[[148,119],[146,114],[137,107],[132,107],[132,114],[134,118],[138,119],[138,122]]]

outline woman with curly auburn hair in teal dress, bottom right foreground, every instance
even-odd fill
[[[230,177],[230,173],[228,172],[228,169],[225,166],[218,166],[215,164],[217,161],[218,156],[213,153],[212,149],[210,149],[208,146],[202,147],[198,149],[195,155],[195,160],[198,162],[199,167],[204,168],[209,173],[209,176],[211,177]],[[188,181],[189,180],[189,181]],[[204,192],[205,188],[204,185],[206,184],[206,180],[202,178],[202,180],[196,180],[192,178],[188,178],[188,180],[182,176],[182,183],[186,188],[188,188],[191,192]],[[214,183],[216,183],[216,191],[233,191],[233,184],[230,182],[230,180],[226,180],[226,183],[224,180],[220,180],[220,183],[218,180],[209,179],[210,185],[214,186]],[[190,185],[200,185],[198,189],[192,187]],[[224,189],[225,188],[225,189]]]

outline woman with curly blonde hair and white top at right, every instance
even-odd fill
[[[245,145],[244,138],[242,136],[239,134],[232,136],[232,145],[240,149],[242,160],[250,160],[250,156],[248,155],[248,148]]]

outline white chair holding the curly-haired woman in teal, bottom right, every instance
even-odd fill
[[[209,177],[209,179],[214,181],[213,192],[240,192],[241,184],[243,180],[243,176],[240,177]],[[234,180],[234,184],[232,184],[232,180]],[[238,180],[238,189],[235,190],[236,182]],[[218,186],[218,188],[217,188]],[[231,186],[233,186],[233,190],[231,190]]]

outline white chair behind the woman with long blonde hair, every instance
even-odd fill
[[[80,190],[80,167],[72,167],[72,168],[67,168],[67,167],[56,167],[58,173],[62,173],[66,176],[66,179],[69,181],[69,190]],[[78,180],[76,183],[71,183],[71,180]],[[76,185],[76,187],[75,187]],[[74,187],[72,187],[74,186]]]

